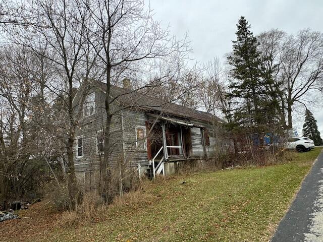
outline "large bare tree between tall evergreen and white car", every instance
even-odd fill
[[[258,37],[266,68],[275,82],[268,87],[278,94],[278,113],[284,128],[292,128],[292,111],[296,103],[310,101],[323,78],[323,34],[310,29],[296,36],[271,30]]]

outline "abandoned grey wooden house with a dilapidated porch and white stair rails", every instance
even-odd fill
[[[84,181],[91,179],[103,158],[105,90],[103,83],[83,83],[73,100],[80,123],[74,143],[75,170]],[[110,93],[114,100],[109,156],[112,166],[133,167],[139,176],[147,171],[153,176],[167,175],[174,173],[181,161],[214,156],[218,142],[214,124],[219,125],[220,118],[165,103],[142,90],[111,86]]]

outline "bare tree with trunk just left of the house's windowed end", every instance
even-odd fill
[[[58,127],[58,138],[66,147],[68,178],[71,207],[80,200],[74,168],[73,143],[78,121],[75,116],[73,98],[81,80],[88,78],[94,63],[89,54],[89,46],[84,29],[87,15],[81,12],[76,1],[35,1],[28,6],[33,13],[33,23],[22,28],[14,40],[31,48],[39,58],[47,59],[55,68],[55,79],[44,83],[38,80],[41,87],[46,87],[63,103],[62,117],[64,125]],[[17,40],[18,39],[18,40]],[[41,44],[39,44],[41,43]],[[44,48],[45,46],[45,48]],[[45,49],[45,51],[44,51]],[[60,122],[59,122],[60,123]],[[53,122],[55,124],[55,122]]]

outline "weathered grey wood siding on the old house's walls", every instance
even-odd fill
[[[81,87],[81,90],[87,90]],[[92,115],[84,117],[80,116],[79,127],[75,132],[74,142],[74,162],[75,170],[78,177],[85,177],[85,172],[94,172],[99,169],[99,161],[103,159],[103,154],[97,152],[97,132],[104,130],[105,127],[105,110],[104,99],[105,94],[102,90],[91,88],[88,93],[95,92],[95,112]],[[82,93],[79,92],[74,99],[74,113],[83,113],[83,106],[79,103],[82,98]],[[118,110],[118,111],[117,111]],[[148,165],[147,149],[137,147],[136,145],[136,127],[146,127],[146,122],[149,120],[148,115],[140,109],[126,108],[121,110],[119,106],[112,105],[114,112],[111,125],[111,155],[110,165],[116,166],[120,161],[127,167],[137,167],[138,163],[141,166]],[[151,118],[151,117],[150,117]],[[203,147],[203,139],[201,128],[191,128],[192,156],[190,158],[213,157],[217,155],[217,147],[221,142],[217,138],[216,126],[199,120],[188,120],[196,126],[205,127],[209,134],[209,146]],[[146,130],[147,134],[148,130]],[[78,138],[83,137],[83,157],[77,157]],[[204,152],[205,151],[205,152]]]

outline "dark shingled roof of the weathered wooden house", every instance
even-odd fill
[[[105,92],[106,84],[100,83],[100,86],[101,89]],[[208,123],[211,123],[214,120],[217,120],[218,122],[223,122],[221,118],[212,115],[208,112],[195,110],[171,102],[166,103],[164,100],[147,94],[143,89],[132,91],[130,89],[112,85],[110,93],[113,98],[116,98],[120,103],[124,105],[140,107],[142,109],[157,112],[163,111],[166,114],[171,114],[183,118],[201,120]]]

